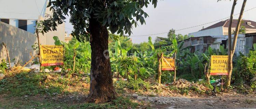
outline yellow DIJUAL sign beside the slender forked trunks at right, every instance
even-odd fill
[[[211,56],[211,75],[228,75],[228,56]]]

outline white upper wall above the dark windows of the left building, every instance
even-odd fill
[[[38,19],[45,14],[48,0],[0,0],[0,18]]]

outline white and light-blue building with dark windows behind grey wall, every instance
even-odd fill
[[[34,34],[36,22],[47,19],[47,14],[51,15],[47,4],[48,0],[0,0],[0,21]],[[53,36],[65,41],[65,24],[44,36],[47,41],[42,40],[42,44],[53,45]]]

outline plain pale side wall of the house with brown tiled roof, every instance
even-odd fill
[[[193,35],[194,37],[200,36],[214,36],[214,35],[223,35],[223,27],[216,27],[207,30],[197,31],[193,33],[189,33],[189,36]]]

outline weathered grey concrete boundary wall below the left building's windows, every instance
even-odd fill
[[[30,32],[0,21],[0,60],[7,59],[3,42],[7,45],[10,59],[15,59],[13,62],[25,63],[30,59],[29,52],[35,54],[31,46],[37,42],[37,37]]]

